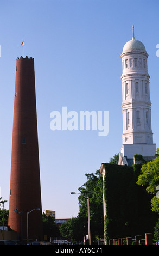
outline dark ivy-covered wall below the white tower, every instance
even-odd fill
[[[118,166],[105,163],[105,240],[135,237],[153,232],[158,215],[151,211],[151,195],[136,184],[141,164]]]

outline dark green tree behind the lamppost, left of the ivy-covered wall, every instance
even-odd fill
[[[81,242],[88,234],[87,197],[90,199],[91,241],[104,236],[103,225],[103,182],[99,170],[85,174],[87,181],[79,187],[79,214],[60,227],[62,236],[71,237],[72,241]],[[86,198],[85,198],[86,197]]]

